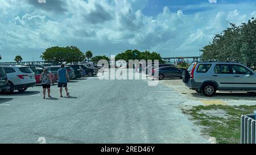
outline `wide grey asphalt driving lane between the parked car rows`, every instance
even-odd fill
[[[43,99],[42,87],[0,95],[0,143],[209,143],[183,114],[187,98],[147,80],[77,79],[71,97]]]

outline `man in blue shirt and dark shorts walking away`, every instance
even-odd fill
[[[61,64],[61,69],[58,70],[57,73],[57,78],[58,78],[58,87],[60,88],[60,97],[62,98],[62,89],[63,87],[66,90],[67,96],[69,95],[68,93],[68,82],[69,82],[69,76],[68,76],[68,71],[65,69],[65,65]]]

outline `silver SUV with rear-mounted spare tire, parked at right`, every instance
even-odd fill
[[[196,62],[183,71],[182,78],[186,86],[207,97],[217,90],[256,92],[256,73],[234,62]]]

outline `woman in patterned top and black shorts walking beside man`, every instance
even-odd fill
[[[52,85],[52,78],[50,73],[47,73],[47,69],[43,70],[43,73],[40,75],[40,81],[43,86],[43,95],[44,99],[46,99],[46,89],[48,91],[48,97],[51,98],[51,85]]]

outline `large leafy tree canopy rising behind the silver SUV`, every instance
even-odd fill
[[[214,36],[200,51],[202,60],[236,61],[250,66],[256,62],[256,20],[231,27]]]

